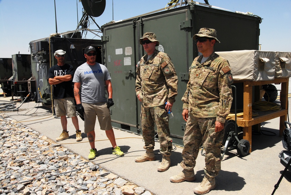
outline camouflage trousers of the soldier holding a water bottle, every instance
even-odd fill
[[[141,128],[145,146],[143,148],[154,149],[155,146],[155,124],[160,143],[160,153],[163,156],[170,156],[172,152],[172,138],[170,137],[168,113],[165,105],[144,108],[141,107]]]

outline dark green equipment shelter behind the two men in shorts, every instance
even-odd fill
[[[51,36],[43,40],[31,41],[32,76],[29,79],[28,88],[33,95],[33,101],[52,105],[52,88],[47,76],[49,68],[57,64],[54,52],[58,49],[64,50],[66,52],[65,62],[72,65],[76,70],[79,65],[86,62],[84,50],[89,45],[96,48],[96,61],[102,63],[101,40]]]

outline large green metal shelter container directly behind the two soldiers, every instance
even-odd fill
[[[213,28],[221,42],[215,44],[214,51],[257,50],[261,20],[255,15],[189,3],[104,24],[101,27],[104,63],[111,73],[114,94],[114,105],[110,108],[112,125],[141,134],[141,105],[136,98],[135,78],[136,65],[145,54],[143,46],[139,44],[143,33],[156,34],[160,43],[156,49],[167,53],[175,66],[179,78],[178,96],[172,107],[174,118],[169,119],[169,126],[173,143],[182,145],[186,123],[181,116],[181,99],[189,80],[189,67],[199,55],[192,37],[200,28]]]

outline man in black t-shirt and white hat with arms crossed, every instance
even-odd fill
[[[72,118],[72,123],[76,129],[76,141],[82,141],[79,122],[74,104],[74,94],[72,89],[73,66],[65,63],[65,53],[62,49],[57,50],[54,56],[58,63],[49,69],[49,84],[53,85],[53,99],[56,117],[61,117],[63,132],[56,138],[62,141],[69,138],[67,130],[67,117]]]

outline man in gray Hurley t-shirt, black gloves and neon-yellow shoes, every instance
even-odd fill
[[[88,46],[85,49],[87,62],[79,66],[74,74],[74,96],[76,110],[84,118],[84,132],[91,146],[88,159],[95,159],[98,155],[95,148],[95,122],[98,118],[100,129],[105,130],[112,145],[112,154],[124,155],[116,145],[109,107],[113,106],[111,77],[107,68],[96,62],[96,49]],[[108,100],[106,98],[106,91]]]

